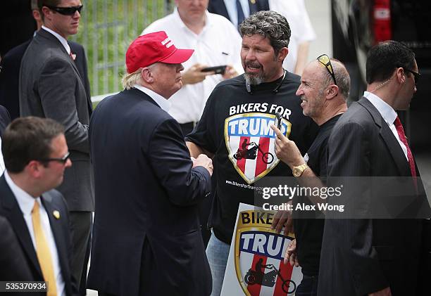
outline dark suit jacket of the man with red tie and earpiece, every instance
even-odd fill
[[[394,134],[366,98],[340,117],[328,150],[328,176],[411,176]],[[371,198],[387,198],[389,190],[379,190]],[[429,208],[425,193],[418,200]],[[318,295],[368,295],[387,286],[392,295],[417,295],[422,226],[422,219],[326,219]]]

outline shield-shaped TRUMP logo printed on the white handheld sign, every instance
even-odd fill
[[[292,295],[302,279],[300,267],[283,263],[293,238],[277,234],[270,229],[270,223],[263,223],[268,214],[254,210],[239,213],[235,272],[247,296]]]

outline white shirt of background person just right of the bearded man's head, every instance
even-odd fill
[[[304,0],[269,0],[269,6],[271,11],[277,11],[289,22],[292,35],[289,41],[289,53],[283,62],[283,67],[293,72],[299,44],[316,39],[305,2]],[[311,58],[317,58],[317,56]]]

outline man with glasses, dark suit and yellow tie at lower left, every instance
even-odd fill
[[[18,238],[32,280],[49,282],[47,295],[77,292],[70,272],[68,209],[53,189],[71,166],[63,133],[54,120],[23,117],[2,137],[6,171],[0,177],[0,214]]]

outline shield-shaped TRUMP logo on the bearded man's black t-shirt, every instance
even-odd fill
[[[270,128],[275,115],[244,113],[225,120],[225,143],[229,159],[238,174],[254,183],[268,174],[280,161],[274,153],[275,133]],[[282,119],[281,131],[289,136],[292,124]]]

